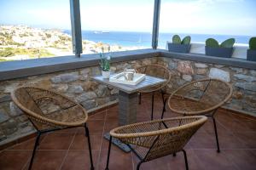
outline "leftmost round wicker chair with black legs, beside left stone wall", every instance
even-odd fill
[[[94,169],[91,156],[89,129],[86,126],[87,112],[84,107],[67,97],[44,88],[16,88],[11,97],[20,110],[37,129],[37,139],[32,152],[29,169],[32,168],[33,158],[42,133],[71,127],[84,127],[90,152],[90,169]]]

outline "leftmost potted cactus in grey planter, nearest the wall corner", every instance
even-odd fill
[[[175,53],[189,53],[190,50],[190,36],[186,36],[181,40],[178,35],[172,37],[172,42],[168,42],[168,50]]]

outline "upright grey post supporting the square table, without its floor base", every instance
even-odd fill
[[[119,126],[137,122],[137,93],[119,91]]]

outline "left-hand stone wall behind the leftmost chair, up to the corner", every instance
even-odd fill
[[[151,63],[156,64],[157,58],[116,63],[112,65],[111,71],[119,72]],[[93,66],[0,82],[0,145],[35,132],[32,123],[10,99],[10,92],[14,88],[28,85],[53,89],[78,101],[87,111],[93,111],[116,102],[119,93],[116,89],[91,80],[90,77],[99,74],[100,67]]]

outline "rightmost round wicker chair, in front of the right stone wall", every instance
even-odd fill
[[[214,114],[221,105],[230,99],[232,91],[228,82],[218,79],[202,79],[177,88],[169,97],[168,105],[171,111],[183,116],[210,116],[213,121],[217,151],[220,152]],[[163,115],[164,111],[162,117]]]

